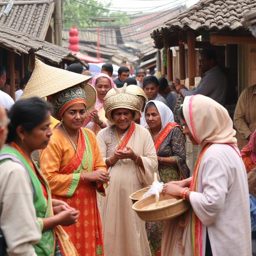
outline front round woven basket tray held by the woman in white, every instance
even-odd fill
[[[138,200],[132,205],[142,220],[164,221],[180,216],[190,208],[188,202],[180,197],[160,194],[158,207],[154,195]]]

